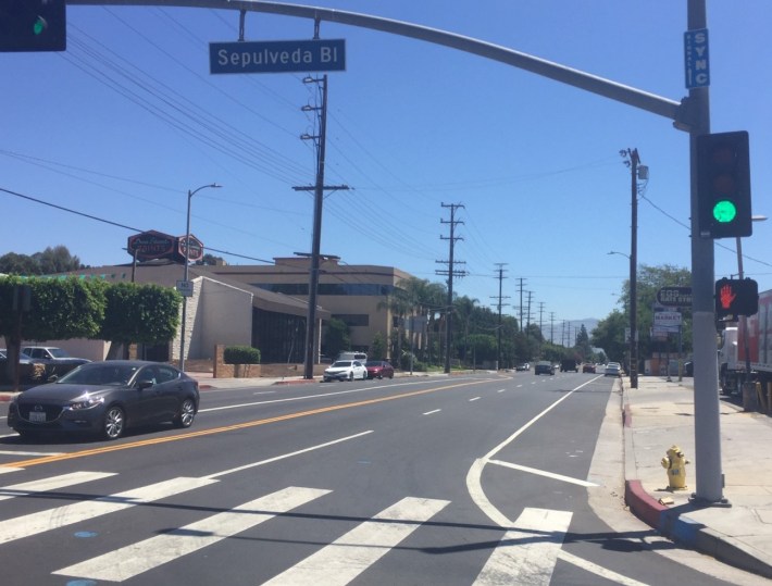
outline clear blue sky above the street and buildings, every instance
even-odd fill
[[[300,3],[300,2],[297,2]],[[686,1],[316,0],[501,45],[680,101]],[[754,213],[772,215],[768,0],[708,0],[712,132],[750,135]],[[306,40],[308,20],[250,13],[246,40]],[[665,117],[509,65],[375,30],[329,72],[321,252],[444,282],[531,321],[606,317],[630,274],[631,171],[639,265],[690,269],[688,135]],[[229,264],[312,247],[319,86],[304,74],[212,75],[209,43],[238,12],[69,5],[67,50],[0,53],[0,255],[64,245],[89,266],[130,262],[135,230],[191,233]],[[314,73],[321,77],[323,73]],[[11,191],[11,192],[9,192]],[[745,276],[772,288],[772,222],[743,240]],[[610,254],[610,252],[617,252]],[[625,258],[627,255],[627,258]],[[715,242],[715,278],[737,274]],[[501,272],[499,273],[499,269]],[[499,282],[499,274],[503,277]]]

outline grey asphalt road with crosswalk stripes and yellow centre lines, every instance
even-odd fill
[[[185,431],[9,433],[2,584],[733,583],[590,507],[612,384],[521,372],[245,387],[203,391]]]

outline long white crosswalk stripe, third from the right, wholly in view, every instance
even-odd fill
[[[290,486],[170,533],[57,570],[53,574],[123,582],[222,541],[328,493],[324,489]]]

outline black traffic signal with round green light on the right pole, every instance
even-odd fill
[[[697,137],[699,236],[750,236],[750,159],[748,133]]]

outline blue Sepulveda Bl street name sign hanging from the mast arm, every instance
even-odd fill
[[[346,40],[210,42],[210,73],[345,71]]]

